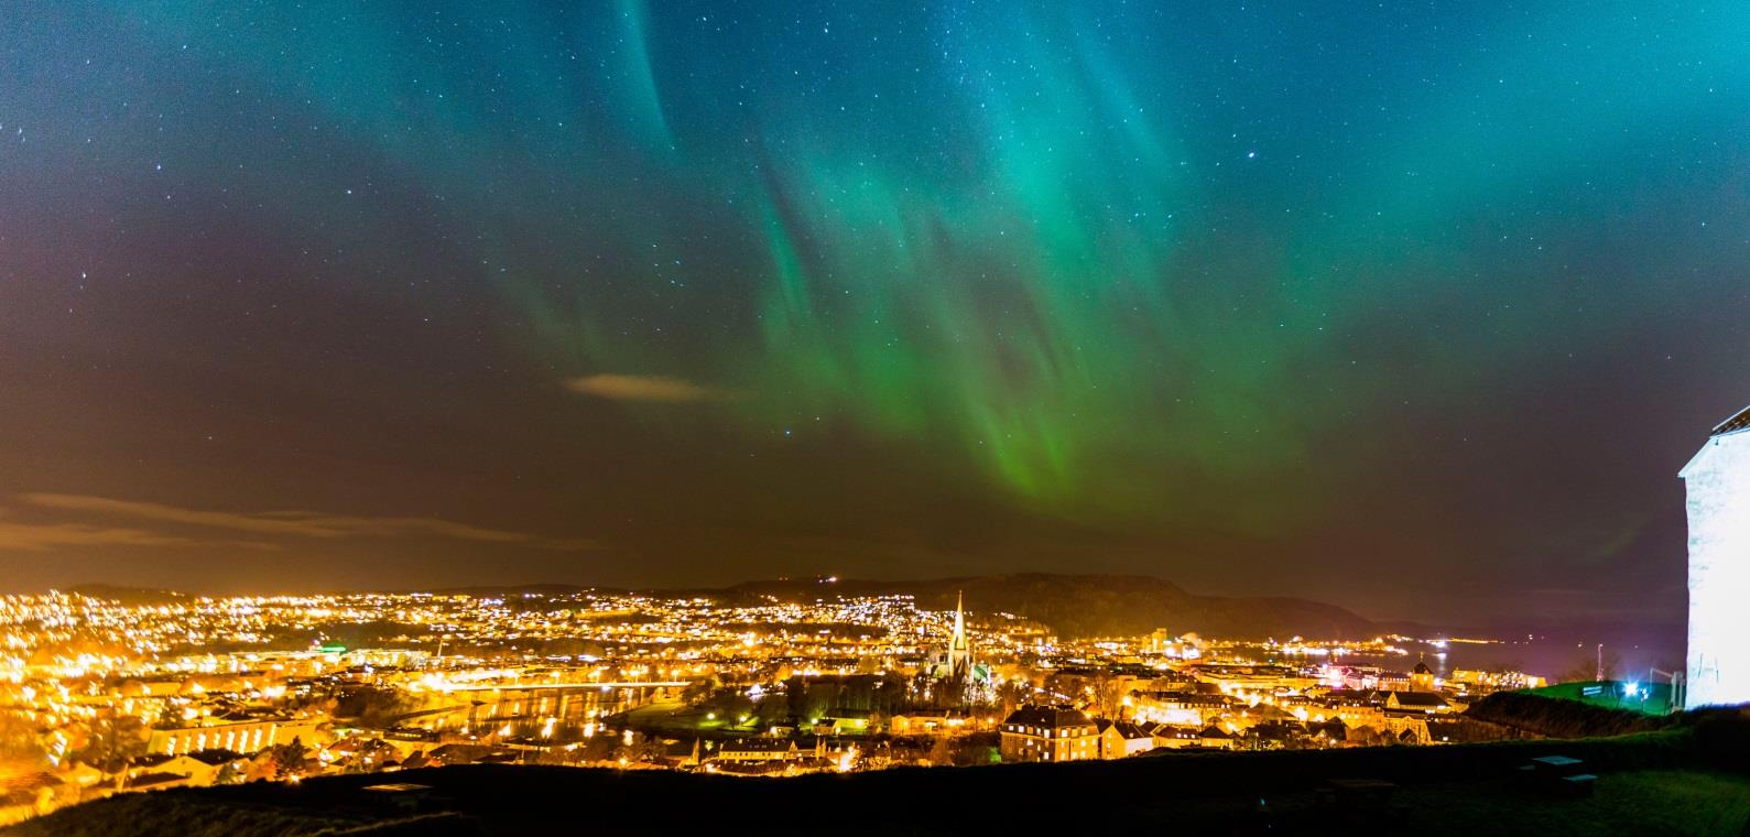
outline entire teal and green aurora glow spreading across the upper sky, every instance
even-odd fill
[[[1340,9],[66,14],[164,77],[192,44],[189,114],[236,89],[308,123],[238,189],[359,275],[490,287],[485,327],[553,387],[721,396],[586,404],[642,434],[850,440],[1073,525],[1270,536],[1648,312],[1726,333],[1664,299],[1746,263],[1750,7]],[[231,165],[191,137],[140,154]],[[329,224],[359,186],[334,159],[394,210]]]

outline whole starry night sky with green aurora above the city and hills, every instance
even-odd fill
[[[1676,622],[1750,7],[0,0],[0,580]]]

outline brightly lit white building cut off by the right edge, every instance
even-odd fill
[[[1678,473],[1689,492],[1685,709],[1750,702],[1750,408]]]

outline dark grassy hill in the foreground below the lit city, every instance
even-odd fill
[[[1750,819],[1741,716],[1582,741],[1120,762],[905,769],[796,779],[469,765],[112,797],[7,835],[401,833],[1740,833]],[[1528,758],[1600,774],[1587,798],[1522,784]],[[1334,804],[1335,777],[1396,784]],[[418,791],[369,790],[382,783]]]

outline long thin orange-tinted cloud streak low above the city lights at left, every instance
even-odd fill
[[[84,511],[102,517],[124,517],[154,524],[173,524],[233,532],[290,536],[290,538],[448,538],[457,541],[504,543],[541,550],[579,552],[593,548],[593,541],[542,538],[508,529],[488,529],[457,524],[434,517],[348,517],[317,511],[203,511],[161,503],[138,503],[82,494],[24,494],[24,503],[60,511]],[[150,532],[142,532],[150,534]]]

